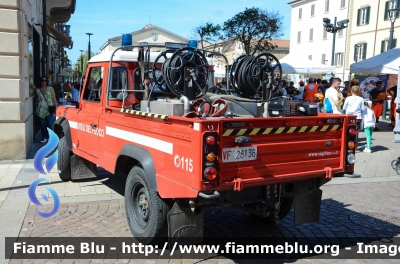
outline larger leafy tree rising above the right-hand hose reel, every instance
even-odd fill
[[[276,48],[270,41],[282,34],[282,19],[279,12],[268,12],[260,8],[246,8],[223,24],[227,38],[243,43],[246,54]]]

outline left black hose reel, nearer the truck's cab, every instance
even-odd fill
[[[168,54],[172,54],[168,58]],[[161,68],[157,66],[164,58]],[[152,68],[155,84],[167,94],[180,97],[188,92],[199,98],[203,94],[198,88],[207,86],[209,66],[206,57],[197,49],[186,47],[161,52]],[[195,83],[197,82],[197,84]]]

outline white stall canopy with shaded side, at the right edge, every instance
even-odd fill
[[[372,58],[350,65],[351,73],[398,74],[400,48],[394,48]]]

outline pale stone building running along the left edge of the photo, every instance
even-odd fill
[[[72,41],[56,27],[69,20],[75,2],[0,1],[0,160],[25,159],[34,143],[34,84],[65,60],[59,43]]]

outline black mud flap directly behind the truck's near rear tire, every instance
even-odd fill
[[[196,208],[192,212],[189,207],[180,207],[174,203],[168,212],[168,242],[171,245],[199,244],[203,241],[204,209]]]

